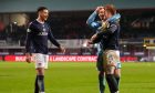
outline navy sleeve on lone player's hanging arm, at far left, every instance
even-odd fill
[[[25,39],[25,52],[31,53],[32,48],[32,37],[33,37],[33,25],[30,23],[27,29],[27,39]]]

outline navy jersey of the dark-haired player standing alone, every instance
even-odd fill
[[[48,40],[50,40],[54,45],[60,46],[58,41],[54,39],[49,24],[45,22],[40,23],[34,20],[29,24],[27,31],[25,51],[28,53],[48,54]]]

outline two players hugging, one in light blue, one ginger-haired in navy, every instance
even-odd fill
[[[97,16],[100,20],[95,21]],[[100,49],[97,53],[100,93],[104,93],[105,90],[104,74],[111,93],[118,93],[121,76],[120,18],[121,16],[116,13],[114,6],[106,4],[105,7],[97,7],[86,21],[87,25],[96,31],[87,43],[99,43]]]

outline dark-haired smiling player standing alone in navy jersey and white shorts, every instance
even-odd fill
[[[35,62],[37,78],[34,93],[44,92],[44,69],[48,69],[48,39],[62,52],[64,48],[54,39],[50,25],[45,22],[49,10],[45,7],[38,9],[38,19],[32,21],[27,32],[27,62],[31,62],[31,54]]]

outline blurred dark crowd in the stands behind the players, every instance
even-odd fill
[[[154,37],[155,14],[143,11],[142,13],[120,11],[121,18],[121,39],[143,39]],[[52,32],[56,39],[89,39],[93,33],[86,25],[86,20],[92,11],[52,13],[48,20]],[[34,13],[27,13],[29,21],[34,20]],[[0,40],[23,41],[25,39],[27,27],[18,25],[17,22],[3,24],[0,21]]]

